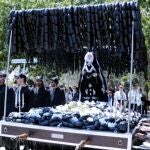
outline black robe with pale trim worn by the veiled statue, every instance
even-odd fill
[[[93,54],[93,67],[94,70],[88,72],[85,68],[85,64],[82,68],[82,72],[79,80],[79,90],[81,101],[108,101],[108,97],[106,94],[107,85],[106,80],[104,78],[102,69],[97,61],[96,55]],[[91,66],[90,66],[91,67]],[[87,66],[88,68],[88,66]]]

